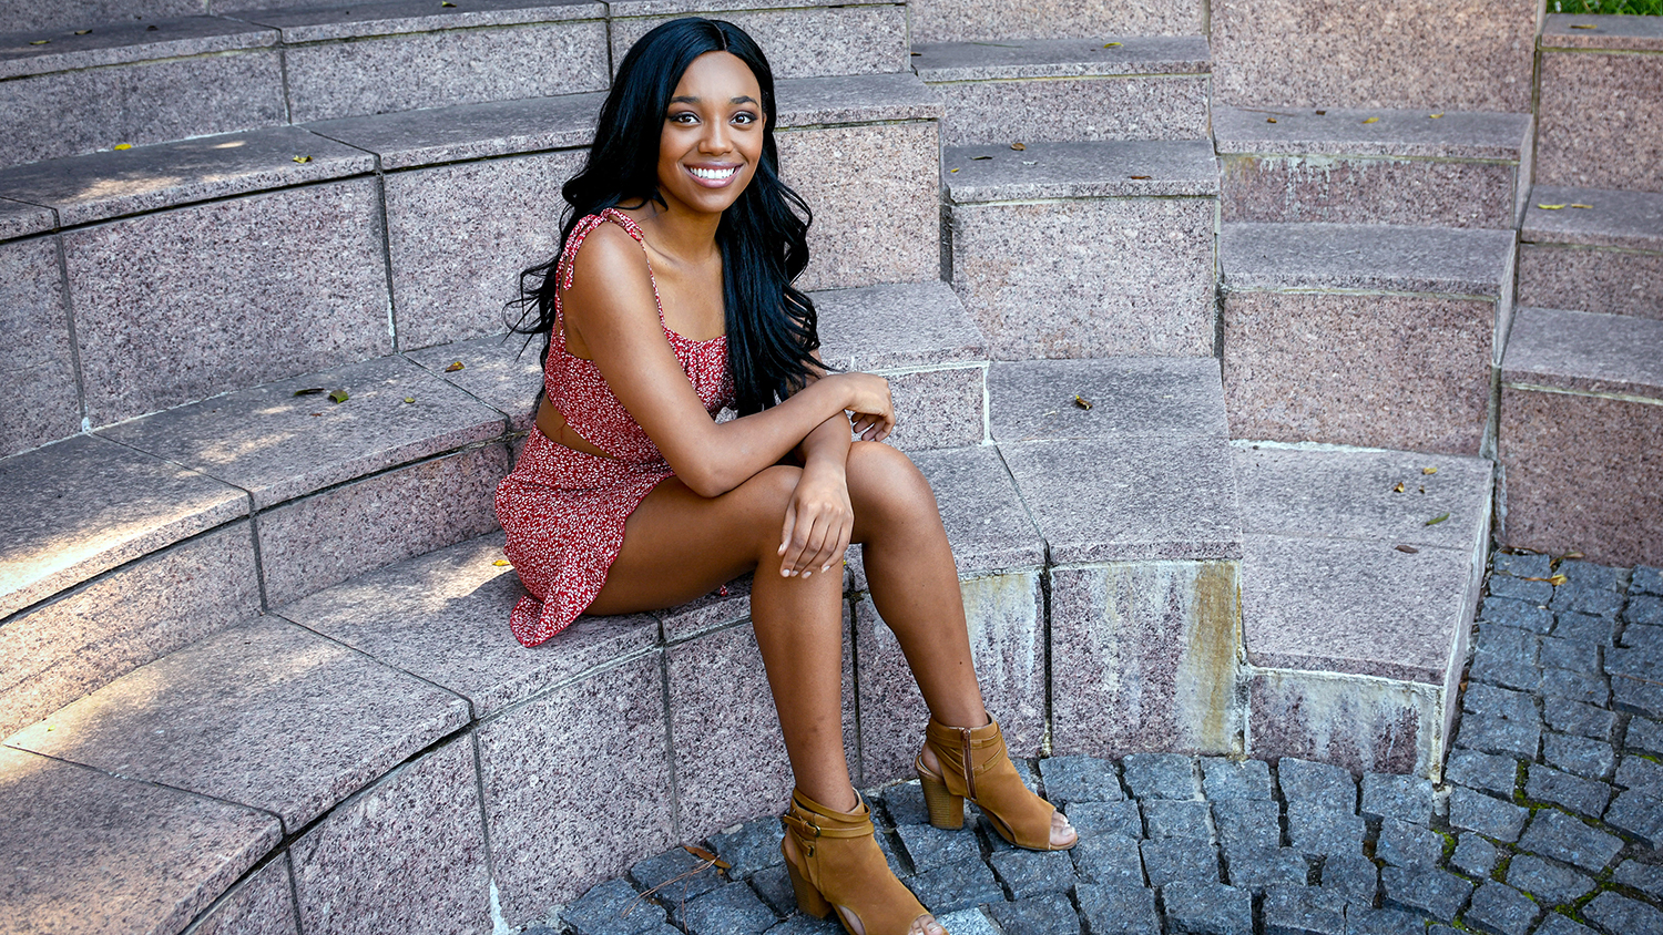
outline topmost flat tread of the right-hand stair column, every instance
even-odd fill
[[[1344,156],[1517,166],[1528,159],[1533,128],[1528,113],[1212,105],[1212,138],[1224,158]]]

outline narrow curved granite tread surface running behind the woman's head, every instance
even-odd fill
[[[856,75],[778,81],[778,128],[851,126],[940,120],[941,103],[913,75]],[[456,161],[587,148],[604,93],[486,101],[376,116],[338,118],[200,136],[126,151],[98,151],[0,169],[0,198],[53,211],[15,218],[0,236],[23,236],[251,196],[296,184],[374,176]],[[446,128],[484,125],[492,133],[457,138]],[[439,144],[422,143],[432,135]],[[231,143],[233,146],[226,146]],[[145,161],[166,171],[146,173]],[[178,179],[186,163],[191,176]],[[133,166],[138,163],[138,166]],[[136,173],[136,176],[135,176]],[[175,173],[175,174],[168,174]],[[151,179],[145,184],[146,176]],[[170,179],[158,184],[156,178]],[[138,184],[135,184],[138,181]],[[118,194],[88,196],[100,183]],[[42,194],[42,193],[47,194]]]

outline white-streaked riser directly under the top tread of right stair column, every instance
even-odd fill
[[[1284,154],[1219,163],[1224,221],[1507,229],[1530,188],[1528,166],[1520,173],[1517,163]]]

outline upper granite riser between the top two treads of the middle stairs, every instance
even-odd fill
[[[946,105],[945,146],[1207,135],[1206,75],[1019,78],[930,85]]]

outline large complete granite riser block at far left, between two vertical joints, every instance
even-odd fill
[[[63,234],[86,415],[108,425],[389,352],[381,249],[371,179]]]

